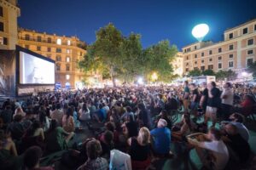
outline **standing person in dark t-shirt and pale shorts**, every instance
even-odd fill
[[[207,100],[207,113],[205,116],[205,124],[207,124],[209,118],[212,119],[212,127],[215,127],[217,122],[217,110],[220,105],[220,91],[216,88],[215,82],[210,82],[207,85],[208,100]]]

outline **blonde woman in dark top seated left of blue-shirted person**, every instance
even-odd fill
[[[151,162],[150,132],[147,127],[139,130],[137,138],[128,139],[132,169],[146,169]],[[139,151],[138,151],[139,150]]]

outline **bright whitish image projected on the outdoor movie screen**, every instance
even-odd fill
[[[20,52],[20,84],[54,84],[55,64]]]

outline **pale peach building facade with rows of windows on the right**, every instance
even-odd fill
[[[256,60],[256,19],[224,31],[223,42],[195,42],[183,47],[183,73],[194,69],[244,71]]]

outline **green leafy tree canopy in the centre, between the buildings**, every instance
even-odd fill
[[[143,49],[141,35],[131,32],[125,37],[110,23],[96,31],[96,41],[88,45],[78,65],[84,72],[99,71],[103,78],[111,78],[113,85],[115,78],[131,82],[138,76],[146,79],[153,72],[160,81],[170,82],[170,62],[176,53],[176,46],[167,40]]]

